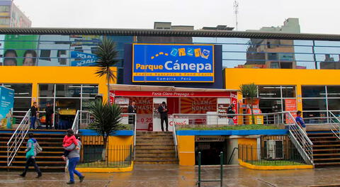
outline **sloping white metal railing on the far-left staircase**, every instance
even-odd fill
[[[16,131],[14,131],[7,142],[7,166],[11,166],[18,149],[20,149],[23,140],[25,140],[28,130],[30,130],[30,110],[28,110],[25,117],[23,117],[23,120],[21,120],[21,123],[18,125],[18,128],[16,128]]]

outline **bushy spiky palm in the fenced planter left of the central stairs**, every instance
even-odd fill
[[[90,103],[89,112],[94,116],[94,123],[90,124],[90,128],[103,137],[102,159],[105,160],[108,137],[120,128],[122,108],[116,104],[96,100]]]

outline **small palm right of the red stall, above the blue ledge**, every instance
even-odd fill
[[[241,86],[239,86],[239,91],[242,93],[243,97],[248,99],[248,105],[251,111],[251,120],[252,120],[252,124],[255,123],[255,116],[254,116],[254,110],[253,110],[253,106],[254,106],[254,102],[255,99],[257,98],[257,86],[254,83],[251,84],[242,84]]]

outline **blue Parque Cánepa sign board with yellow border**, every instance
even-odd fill
[[[214,82],[214,45],[134,44],[132,82]]]

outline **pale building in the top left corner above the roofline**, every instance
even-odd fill
[[[0,0],[0,28],[30,28],[32,22],[11,0]]]

